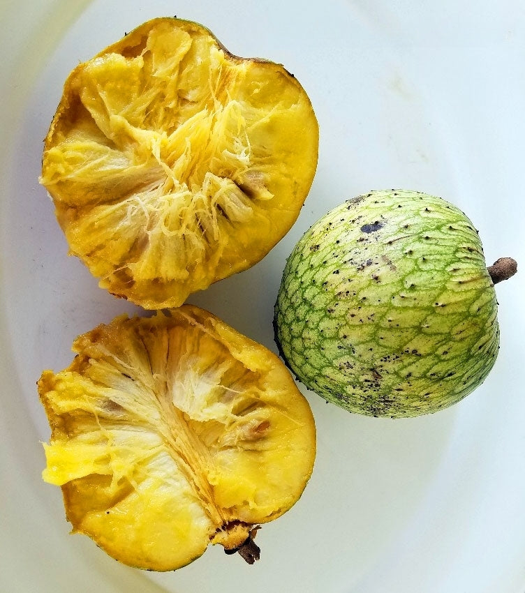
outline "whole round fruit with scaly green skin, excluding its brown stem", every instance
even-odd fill
[[[406,190],[348,200],[286,262],[276,343],[297,379],[349,412],[401,418],[471,393],[498,353],[494,284],[457,207]]]

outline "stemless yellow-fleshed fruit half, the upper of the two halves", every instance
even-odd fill
[[[264,257],[317,156],[310,100],[283,66],[159,18],[69,75],[40,182],[70,253],[112,294],[159,309]]]

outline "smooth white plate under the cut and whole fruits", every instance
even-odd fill
[[[525,265],[525,19],[519,0],[24,0],[0,9],[0,590],[198,593],[523,593],[524,273],[498,285],[501,351],[475,393],[418,419],[353,416],[306,393],[318,458],[304,495],[248,566],[219,546],[175,573],[121,566],[68,534],[43,483],[49,428],[35,382],[73,338],[132,311],[73,258],[38,185],[42,139],[79,61],[150,17],[196,20],[238,55],[295,73],[320,158],[293,230],[253,269],[191,301],[275,350],[285,258],[327,209],[370,189],[464,209],[489,263]]]

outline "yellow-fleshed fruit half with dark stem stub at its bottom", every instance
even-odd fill
[[[142,569],[173,570],[209,543],[253,562],[257,525],[311,475],[309,404],[279,358],[211,313],[125,315],[80,336],[38,381],[52,427],[45,481],[74,532]]]

